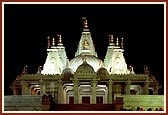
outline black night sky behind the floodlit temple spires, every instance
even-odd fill
[[[163,85],[164,81],[164,6],[163,4],[6,4],[4,7],[4,81],[9,85],[28,65],[36,73],[44,64],[47,36],[62,35],[69,59],[74,58],[83,23],[87,17],[98,57],[104,60],[108,35],[124,37],[124,57],[135,73],[149,67]]]

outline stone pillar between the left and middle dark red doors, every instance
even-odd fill
[[[74,83],[74,104],[78,104],[78,85],[79,85],[79,81],[77,80],[77,78],[74,79],[73,81]]]

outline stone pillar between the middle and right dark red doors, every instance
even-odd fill
[[[96,104],[96,85],[97,85],[97,81],[93,79],[92,81],[92,104]]]

